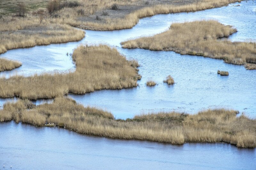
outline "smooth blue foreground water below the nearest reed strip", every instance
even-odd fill
[[[0,169],[255,169],[256,149],[120,140],[0,123]],[[3,166],[5,165],[5,168]]]

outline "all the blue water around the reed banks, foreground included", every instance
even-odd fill
[[[241,6],[233,6],[240,4]],[[196,113],[209,107],[227,107],[256,117],[256,70],[223,63],[222,60],[174,52],[123,49],[120,42],[163,32],[172,22],[216,19],[238,32],[231,41],[256,40],[256,2],[243,1],[227,7],[193,13],[156,15],[143,18],[132,29],[88,31],[79,42],[10,50],[0,57],[19,60],[23,65],[0,76],[25,76],[45,71],[74,70],[66,53],[79,44],[106,43],[128,59],[141,64],[142,79],[132,89],[102,90],[85,95],[70,94],[85,106],[111,111],[116,118],[158,110]],[[229,71],[220,77],[217,70]],[[163,84],[172,75],[175,84]],[[148,79],[158,85],[147,87]],[[1,105],[13,99],[0,99]],[[16,100],[16,99],[14,99]],[[51,100],[36,100],[36,104]],[[231,144],[160,144],[146,141],[115,140],[76,134],[58,128],[37,128],[13,122],[0,123],[0,169],[256,169],[256,149],[239,149]],[[5,168],[2,166],[5,165]]]

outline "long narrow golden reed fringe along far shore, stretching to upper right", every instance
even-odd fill
[[[131,6],[139,5],[135,1]],[[149,1],[150,6],[138,7],[137,10],[132,11],[127,15],[121,15],[122,17],[106,17],[102,22],[95,21],[80,21],[78,22],[72,18],[69,18],[65,22],[83,29],[89,30],[100,30],[100,31],[112,31],[120,29],[128,29],[135,26],[140,18],[153,16],[156,14],[168,14],[168,13],[179,13],[179,12],[194,12],[200,10],[206,10],[216,7],[228,5],[230,3],[239,2],[239,0],[203,0],[203,1],[174,1],[173,4],[169,4],[166,1],[155,4],[154,1]],[[112,4],[112,3],[109,3]],[[104,9],[104,8],[101,8]],[[95,12],[95,11],[94,11]],[[92,13],[94,13],[92,12]],[[120,11],[122,13],[122,11]]]

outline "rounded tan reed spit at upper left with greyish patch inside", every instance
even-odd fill
[[[0,26],[0,54],[15,48],[79,41],[84,34],[83,30],[68,25],[20,19]]]

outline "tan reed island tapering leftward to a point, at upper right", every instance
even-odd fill
[[[236,32],[217,21],[174,23],[170,29],[152,37],[122,42],[123,48],[175,51],[180,54],[202,55],[223,59],[226,63],[256,63],[256,43],[219,40]]]

